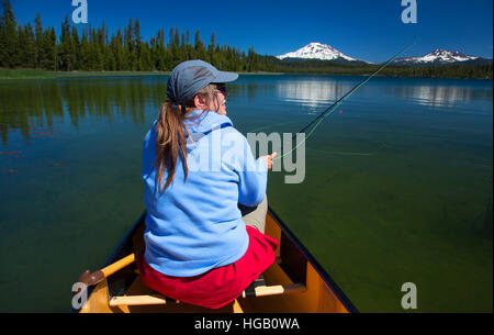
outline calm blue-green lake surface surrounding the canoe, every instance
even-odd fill
[[[362,77],[249,75],[228,115],[295,133]],[[65,312],[144,210],[142,141],[166,76],[0,81],[0,312]],[[361,312],[493,311],[491,80],[373,78],[268,199]],[[341,113],[339,113],[341,111]]]

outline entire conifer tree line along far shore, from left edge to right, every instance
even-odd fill
[[[160,29],[149,41],[141,35],[138,19],[109,35],[109,27],[71,25],[68,16],[57,37],[54,27],[43,27],[40,13],[31,23],[21,25],[10,0],[2,1],[0,13],[0,68],[37,68],[50,71],[169,71],[188,59],[203,59],[227,71],[250,72],[314,72],[333,75],[366,75],[378,68],[364,63],[328,60],[280,60],[258,55],[254,47],[247,53],[226,44],[220,46],[215,33],[210,43],[201,40],[197,30],[192,38],[189,30],[178,26],[167,32]],[[389,66],[381,75],[401,77],[490,78],[492,62],[476,65]]]

